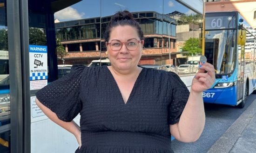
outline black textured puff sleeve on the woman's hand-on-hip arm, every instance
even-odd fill
[[[85,66],[74,65],[66,76],[55,80],[35,95],[47,108],[62,121],[72,121],[81,110],[79,98],[81,77]]]

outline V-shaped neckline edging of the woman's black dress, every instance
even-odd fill
[[[106,68],[108,69],[108,66],[106,66]],[[137,84],[138,84],[138,80],[139,80],[139,78],[140,78],[140,76],[141,76],[141,72],[142,72],[143,70],[144,70],[144,69],[142,68],[142,70],[140,71],[138,77],[137,77],[136,80],[135,80],[135,83],[134,83],[134,85],[133,85],[133,88],[132,88],[132,90],[131,90],[129,96],[128,96],[128,99],[127,99],[127,101],[125,102],[124,99],[123,99],[121,90],[120,90],[120,88],[119,88],[117,82],[115,81],[115,77],[113,76],[113,74],[111,73],[111,71],[108,69],[108,73],[110,74],[111,79],[112,79],[112,81],[113,81],[114,84],[115,84],[115,88],[116,88],[116,89],[118,90],[118,92],[119,92],[119,96],[120,96],[120,98],[121,98],[122,104],[127,105],[128,103],[130,103],[129,101],[130,101],[131,97],[133,96],[133,94],[134,94],[134,92],[135,92],[135,91],[134,91],[134,90],[135,90],[135,87],[136,87]]]

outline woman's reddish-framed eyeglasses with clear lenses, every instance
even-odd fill
[[[128,42],[121,42],[118,40],[113,40],[113,41],[107,43],[107,45],[110,45],[110,48],[112,51],[120,51],[123,44],[126,46],[126,48],[129,51],[135,51],[138,48],[139,43],[141,43],[141,40],[131,40]]]

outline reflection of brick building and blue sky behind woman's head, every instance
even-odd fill
[[[144,32],[145,43],[140,64],[185,64],[187,55],[182,55],[183,52],[179,51],[182,51],[184,42],[189,38],[199,39],[202,16],[176,0],[140,2],[147,5],[136,5],[136,0],[96,0],[90,4],[82,0],[70,6],[84,8],[83,13],[78,12],[81,14],[80,19],[55,22],[56,38],[61,40],[61,45],[67,51],[65,64],[88,65],[93,60],[108,58],[102,36],[111,15],[121,10],[133,13]],[[58,19],[61,13],[56,14],[55,18]],[[191,17],[193,19],[190,19]],[[198,43],[194,47],[199,47]],[[58,63],[62,64],[62,61]]]

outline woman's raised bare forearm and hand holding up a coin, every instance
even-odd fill
[[[205,70],[207,73],[204,73]],[[202,91],[209,89],[215,82],[215,71],[212,64],[201,64],[192,80],[188,102],[179,122],[170,125],[170,133],[182,142],[194,142],[202,134],[205,124]]]

